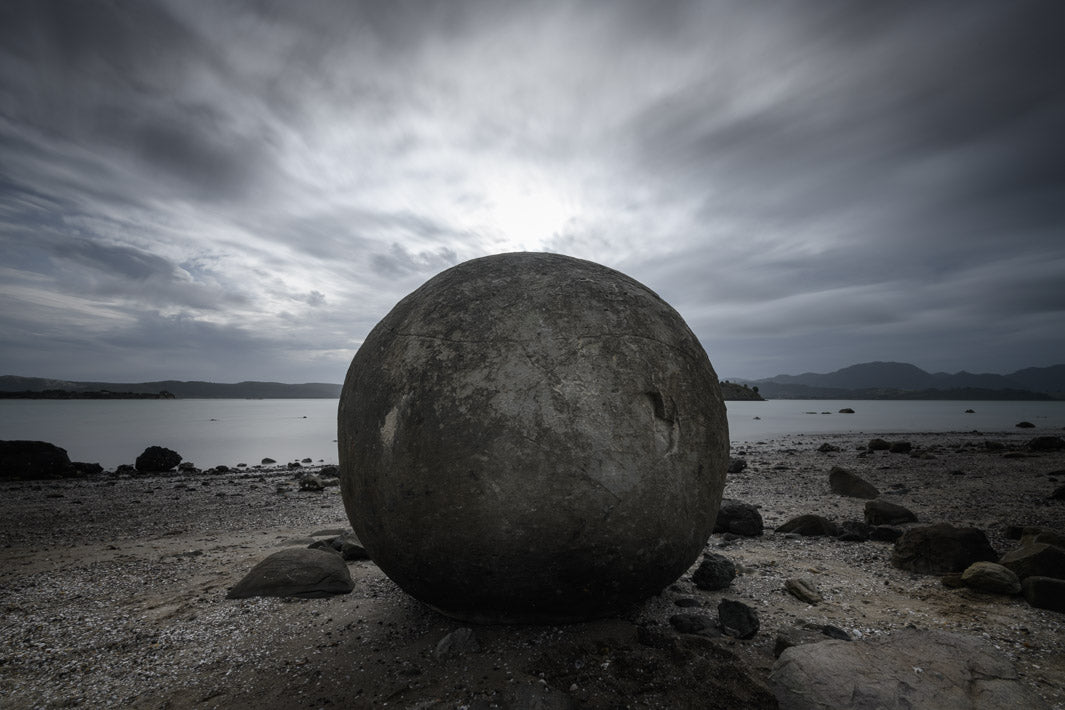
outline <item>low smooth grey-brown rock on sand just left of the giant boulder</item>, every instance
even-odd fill
[[[334,552],[290,547],[274,552],[248,572],[226,595],[230,599],[282,596],[311,599],[355,589],[344,560]]]

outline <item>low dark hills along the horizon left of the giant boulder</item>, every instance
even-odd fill
[[[73,382],[49,380],[40,377],[0,376],[0,393],[44,393],[45,391],[73,394],[108,392],[120,398],[128,394],[158,395],[173,394],[179,399],[335,399],[340,397],[341,385],[326,382],[284,384],[282,382],[182,382],[162,380],[159,382]]]

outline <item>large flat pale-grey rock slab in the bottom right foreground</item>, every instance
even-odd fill
[[[784,650],[770,675],[781,710],[1045,708],[986,641],[903,629]]]

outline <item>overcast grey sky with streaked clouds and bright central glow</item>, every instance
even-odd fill
[[[1059,0],[5,0],[0,374],[340,382],[517,250],[722,378],[1065,362],[1063,75]]]

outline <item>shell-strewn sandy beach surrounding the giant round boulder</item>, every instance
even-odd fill
[[[759,507],[766,533],[715,534],[707,551],[739,569],[726,590],[690,573],[613,618],[567,626],[462,624],[408,597],[371,561],[349,562],[350,594],[227,599],[258,561],[349,529],[339,489],[300,492],[283,467],[0,483],[0,706],[4,708],[735,708],[774,707],[776,637],[832,625],[853,639],[905,627],[981,637],[1048,707],[1065,708],[1065,614],[1022,597],[951,589],[890,564],[892,545],[798,538],[803,514],[861,521],[836,495],[843,466],[920,524],[983,530],[999,552],[1010,526],[1065,530],[1065,452],[1030,452],[1041,433],[876,434],[913,455],[868,452],[873,434],[792,435],[735,445],[748,466],[725,497]],[[986,442],[1001,447],[988,447]],[[822,444],[838,451],[823,452]],[[308,468],[298,473],[307,473]],[[824,600],[785,591],[803,577]],[[751,640],[685,634],[670,616],[753,607]],[[682,607],[681,605],[692,605]],[[540,703],[540,705],[536,705]]]

